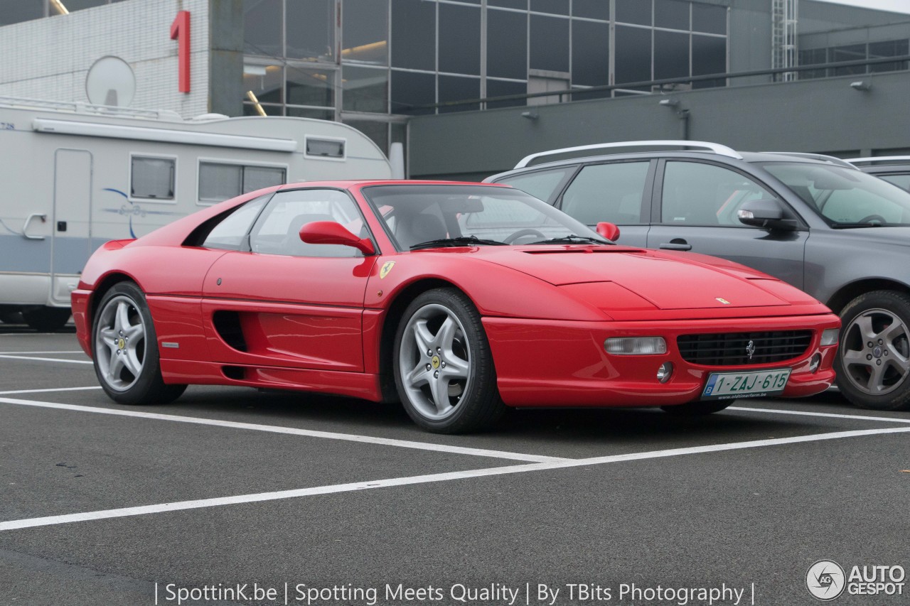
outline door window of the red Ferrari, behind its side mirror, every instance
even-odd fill
[[[354,201],[337,189],[296,189],[278,192],[262,211],[249,237],[253,252],[294,257],[358,257],[356,248],[307,244],[300,227],[313,221],[335,221],[365,236]]]

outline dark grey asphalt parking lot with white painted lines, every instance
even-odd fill
[[[809,604],[821,560],[886,577],[835,603],[907,603],[908,433],[836,392],[470,436],[252,389],[121,407],[72,332],[0,325],[0,606]]]

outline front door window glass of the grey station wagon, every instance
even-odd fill
[[[774,198],[753,179],[729,168],[668,161],[663,171],[661,222],[748,228],[736,211],[749,200]]]

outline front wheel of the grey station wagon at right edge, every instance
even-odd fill
[[[856,406],[910,409],[910,297],[875,290],[841,312],[837,387]]]

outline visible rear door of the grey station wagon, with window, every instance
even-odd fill
[[[585,165],[562,192],[557,206],[590,227],[609,221],[620,227],[617,243],[644,247],[655,164],[639,159]]]

